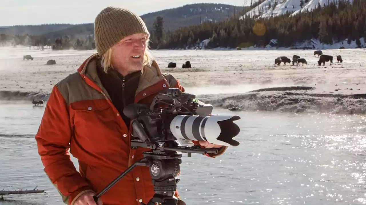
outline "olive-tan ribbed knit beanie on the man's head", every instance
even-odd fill
[[[94,22],[94,40],[99,56],[124,37],[138,33],[150,35],[145,22],[124,8],[104,8]]]

